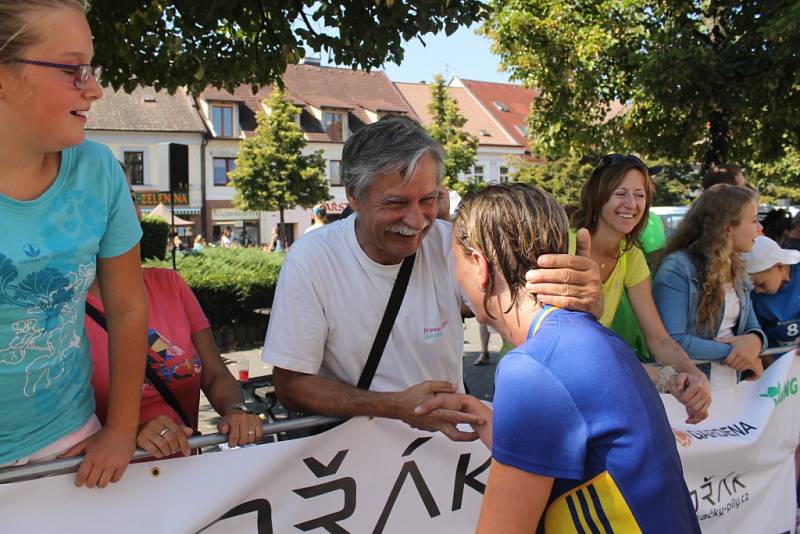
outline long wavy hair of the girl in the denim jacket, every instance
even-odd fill
[[[694,201],[667,243],[666,254],[685,250],[697,270],[697,328],[706,334],[715,333],[725,284],[737,283],[744,273],[728,229],[742,223],[745,210],[755,201],[756,193],[750,189],[717,184]]]

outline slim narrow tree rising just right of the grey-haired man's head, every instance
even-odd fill
[[[444,185],[461,195],[485,186],[486,184],[472,176],[465,181],[458,179],[460,174],[469,173],[475,164],[478,138],[463,130],[467,119],[461,114],[456,99],[447,91],[441,74],[437,74],[431,84],[428,112],[431,115],[428,133],[442,145],[447,155],[444,162]]]

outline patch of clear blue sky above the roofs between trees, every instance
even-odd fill
[[[487,82],[508,82],[506,73],[498,72],[500,58],[489,51],[489,39],[475,34],[477,25],[460,28],[450,35],[440,32],[406,42],[401,65],[387,63],[383,70],[393,82],[431,82],[440,73],[445,81],[453,76]],[[323,55],[322,64],[328,65]]]

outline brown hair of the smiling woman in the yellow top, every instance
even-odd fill
[[[625,236],[625,246],[623,248],[624,250],[629,250],[631,247],[641,246],[639,236],[647,226],[650,206],[653,204],[653,182],[650,180],[650,171],[639,158],[632,156],[624,156],[616,161],[611,160],[612,162],[615,161],[611,164],[604,164],[605,161],[606,158],[600,161],[600,164],[592,170],[589,180],[583,184],[580,205],[572,214],[572,226],[576,229],[586,228],[590,233],[594,234],[597,230],[597,221],[603,206],[606,205],[606,202],[619,187],[619,184],[625,179],[625,175],[630,170],[635,169],[644,176],[642,186],[645,192],[645,207],[642,218],[633,227],[631,233]]]

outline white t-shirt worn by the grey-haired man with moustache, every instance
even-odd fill
[[[400,264],[381,265],[364,253],[356,218],[308,234],[287,254],[261,354],[265,362],[358,383]],[[436,221],[422,240],[373,391],[401,391],[424,380],[462,388],[464,332],[450,232],[450,223]]]

